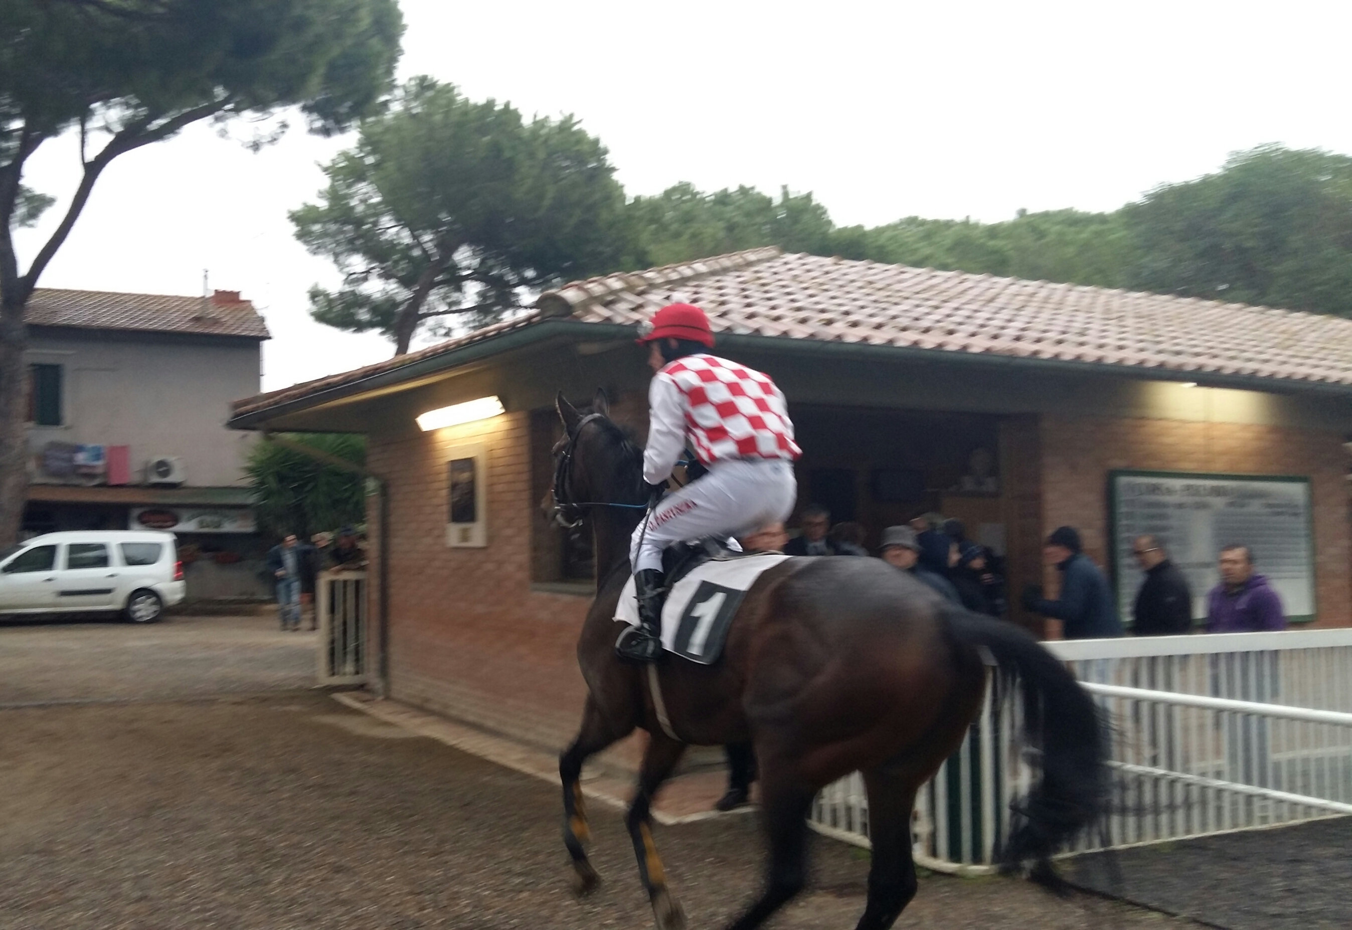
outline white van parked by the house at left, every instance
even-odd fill
[[[172,533],[47,533],[0,553],[0,614],[107,611],[154,623],[183,597]]]

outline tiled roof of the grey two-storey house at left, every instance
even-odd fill
[[[30,326],[268,338],[268,326],[253,303],[241,300],[235,291],[216,291],[208,299],[38,288],[28,297],[24,319]]]

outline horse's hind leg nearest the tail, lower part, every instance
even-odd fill
[[[911,810],[917,788],[910,779],[877,769],[864,773],[864,785],[873,864],[868,871],[868,904],[854,930],[888,930],[915,896]]]

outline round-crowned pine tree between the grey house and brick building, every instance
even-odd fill
[[[523,295],[625,264],[625,195],[606,149],[571,116],[522,119],[429,77],[399,89],[291,214],[343,272],[310,292],[315,319],[379,330],[408,351],[419,326],[484,322]]]

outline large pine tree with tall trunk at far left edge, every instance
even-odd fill
[[[387,96],[402,32],[396,0],[0,4],[0,545],[27,487],[24,307],[104,169],[203,119],[297,107],[311,131],[342,130]],[[66,131],[80,134],[80,180],[20,269],[14,230],[51,204],[24,166]]]

